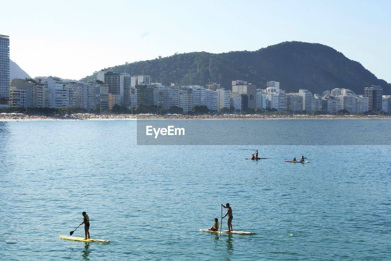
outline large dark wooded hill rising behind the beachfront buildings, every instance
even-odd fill
[[[163,84],[217,82],[231,89],[232,80],[244,80],[263,88],[267,81],[273,80],[280,82],[280,88],[286,92],[308,89],[321,94],[325,90],[348,88],[363,94],[366,85],[380,85],[384,94],[391,94],[391,84],[378,79],[361,63],[326,45],[305,42],[282,42],[257,51],[174,54],[109,69],[131,75],[150,75],[152,81]],[[91,80],[95,75],[82,80]]]

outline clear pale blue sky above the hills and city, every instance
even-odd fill
[[[30,76],[80,79],[176,52],[321,43],[391,82],[391,1],[2,0],[0,34]]]

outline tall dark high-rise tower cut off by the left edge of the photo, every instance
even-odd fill
[[[0,106],[9,99],[9,36],[0,34]]]

